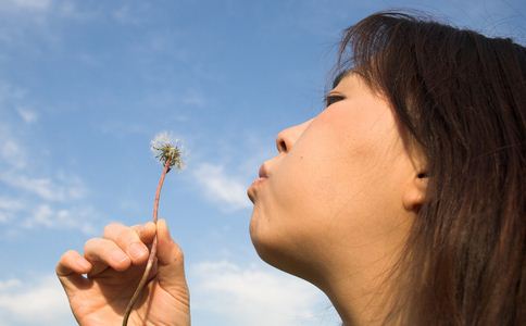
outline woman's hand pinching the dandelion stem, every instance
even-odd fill
[[[150,280],[135,304],[128,325],[190,325],[190,301],[183,251],[159,220],[158,254]],[[148,261],[155,225],[110,224],[102,238],[89,239],[84,255],[65,252],[57,265],[79,325],[121,325]],[[87,274],[87,277],[83,276]]]

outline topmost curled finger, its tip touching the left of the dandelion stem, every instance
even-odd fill
[[[104,239],[115,242],[132,259],[135,265],[142,264],[148,260],[149,250],[140,238],[145,227],[141,225],[127,227],[118,223],[109,224],[104,227]]]

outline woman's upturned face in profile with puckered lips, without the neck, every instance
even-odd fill
[[[346,76],[328,97],[320,115],[278,134],[279,153],[262,166],[267,177],[248,190],[260,256],[310,280],[392,256],[418,174],[390,105],[361,77]]]

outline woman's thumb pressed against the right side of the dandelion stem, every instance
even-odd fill
[[[170,235],[165,220],[158,223],[158,281],[161,288],[189,305],[183,250]]]

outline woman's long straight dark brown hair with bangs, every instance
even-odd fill
[[[385,324],[526,325],[526,49],[381,12],[346,29],[338,71],[389,100],[426,161]]]

